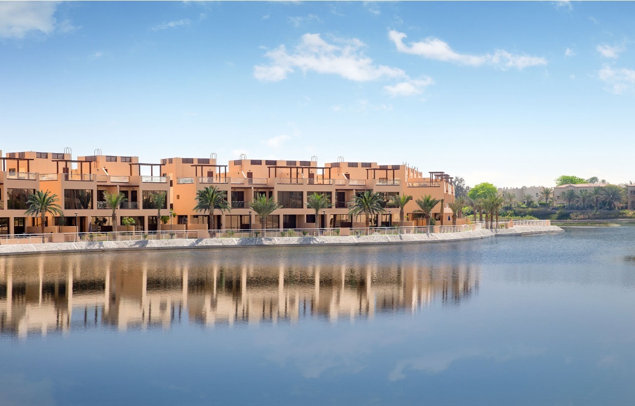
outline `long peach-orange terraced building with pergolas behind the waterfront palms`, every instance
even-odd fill
[[[1,155],[1,152],[0,152]],[[231,211],[214,213],[220,229],[260,228],[260,221],[249,208],[258,195],[273,196],[283,204],[267,218],[267,228],[314,228],[315,212],[306,207],[311,193],[324,193],[331,207],[318,215],[322,226],[364,226],[364,216],[351,216],[354,195],[368,190],[382,193],[384,202],[391,195],[412,195],[405,207],[408,224],[423,225],[415,203],[424,195],[443,199],[433,210],[434,217],[451,221],[448,204],[454,200],[453,178],[443,172],[424,176],[413,167],[379,165],[377,162],[328,162],[319,166],[313,160],[231,160],[218,164],[210,158],[173,157],[160,163],[140,162],[136,156],[95,155],[73,159],[70,151],[13,152],[2,158],[0,171],[0,233],[39,233],[39,218],[25,216],[26,200],[35,190],[49,190],[60,199],[64,217],[46,218],[46,232],[89,232],[112,230],[111,213],[104,201],[105,192],[126,196],[117,216],[135,220],[135,230],[156,230],[157,210],[150,196],[168,193],[161,216],[167,218],[162,230],[206,229],[208,215],[194,211],[196,192],[214,186],[227,193]],[[385,207],[386,213],[373,216],[373,226],[397,225],[399,210]],[[170,216],[173,213],[173,216]],[[119,228],[119,230],[123,230]]]

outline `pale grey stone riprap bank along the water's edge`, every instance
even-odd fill
[[[476,230],[460,233],[399,235],[361,235],[333,237],[272,237],[243,239],[173,239],[140,241],[58,242],[47,244],[1,245],[0,255],[54,252],[126,251],[140,249],[231,248],[253,246],[355,246],[371,244],[420,244],[457,240],[485,239],[497,235],[530,235],[563,232],[558,226],[518,226],[500,230]]]

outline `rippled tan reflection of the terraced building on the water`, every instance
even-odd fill
[[[0,258],[0,332],[23,337],[104,325],[168,329],[185,320],[206,326],[293,324],[305,317],[335,322],[414,313],[433,301],[458,305],[479,284],[472,265],[378,266],[371,259],[318,265],[298,264],[297,258],[210,265],[196,254],[141,257]]]

